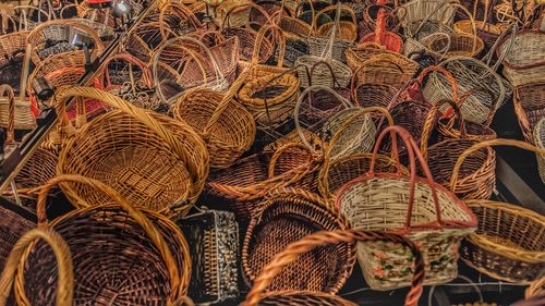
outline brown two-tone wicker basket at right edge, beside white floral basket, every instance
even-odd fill
[[[468,200],[479,229],[462,244],[465,264],[508,282],[529,283],[545,269],[545,217],[519,206]]]

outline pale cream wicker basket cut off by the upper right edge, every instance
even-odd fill
[[[545,33],[522,30],[514,38],[505,37],[496,49],[502,56],[504,76],[512,86],[545,81]]]

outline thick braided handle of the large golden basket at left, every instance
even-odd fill
[[[208,174],[208,154],[206,151],[205,144],[192,127],[185,124],[180,125],[181,127],[183,127],[185,137],[194,140],[194,144],[196,146],[195,149],[203,150],[202,154],[204,154],[203,157],[205,158],[205,160],[196,161],[195,157],[191,156],[191,154],[187,151],[187,148],[185,148],[183,144],[179,139],[177,139],[174,133],[171,130],[167,128],[165,124],[158,122],[157,119],[155,119],[149,112],[132,106],[131,103],[123,101],[117,96],[92,87],[72,87],[59,93],[59,100],[56,105],[56,110],[59,115],[60,125],[71,126],[68,121],[65,111],[65,102],[71,97],[98,99],[100,101],[104,101],[108,106],[119,109],[122,112],[131,115],[136,121],[141,122],[150,131],[153,131],[153,133],[161,138],[168,145],[168,147],[181,159],[181,161],[189,170],[192,184],[183,195],[180,195],[180,199],[196,199],[204,186],[204,181]],[[206,151],[206,154],[204,151]],[[61,155],[61,158],[59,160],[59,168],[61,167],[60,163],[65,161],[65,155]],[[198,164],[198,162],[204,162],[204,164]],[[68,189],[64,192],[69,193]],[[70,194],[72,194],[72,192],[70,192]],[[75,193],[72,196],[74,196],[75,198],[80,197]]]

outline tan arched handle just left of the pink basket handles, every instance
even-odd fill
[[[341,152],[339,152],[336,156],[331,156],[334,145],[335,145],[335,143],[337,143],[339,140],[340,136],[342,135],[342,132],[344,132],[344,130],[347,130],[355,120],[358,120],[359,118],[361,118],[363,115],[372,113],[372,112],[382,112],[383,115],[388,121],[388,125],[389,126],[393,125],[393,119],[391,118],[388,110],[386,110],[385,108],[382,108],[382,107],[361,108],[356,113],[352,114],[349,119],[347,119],[344,122],[342,122],[342,124],[339,126],[339,128],[337,128],[337,131],[332,135],[331,139],[329,140],[329,146],[328,146],[326,154],[325,154],[326,162],[330,162],[331,160],[335,160],[337,157],[343,156],[347,151],[349,151],[358,143],[358,140],[361,139],[362,134],[365,132],[363,128],[360,128],[360,133],[358,134],[358,136],[353,137],[350,145],[348,145]],[[397,139],[393,139],[393,142],[396,142],[396,140]],[[392,158],[396,158],[396,157],[392,155]]]

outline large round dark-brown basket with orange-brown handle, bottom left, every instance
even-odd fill
[[[69,182],[97,188],[110,198],[110,204],[96,205],[85,199],[80,203],[82,208],[48,223],[45,197],[51,187]],[[172,305],[187,292],[191,258],[177,224],[157,212],[136,209],[99,181],[80,175],[49,181],[40,191],[38,227],[58,232],[70,248],[77,271],[74,304]],[[23,254],[15,280],[20,305],[51,305],[56,298],[55,279],[60,277],[50,260],[52,256],[43,242]]]

